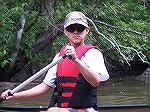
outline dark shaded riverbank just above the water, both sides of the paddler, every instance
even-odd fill
[[[20,83],[37,73],[39,70],[44,68],[48,63],[39,64],[36,62],[28,63],[22,69],[18,71],[10,71],[8,73],[1,73],[0,81],[4,82],[12,82],[12,83]],[[105,63],[107,70],[111,76],[114,75],[129,75],[129,76],[141,76],[146,69],[149,67],[148,64],[142,62],[132,62],[131,66],[122,65],[117,62],[109,62]],[[45,73],[46,74],[46,73]],[[45,75],[43,74],[43,76]],[[150,75],[150,72],[149,72]],[[38,78],[34,82],[41,82],[43,80],[43,76]],[[150,76],[149,76],[150,77]]]

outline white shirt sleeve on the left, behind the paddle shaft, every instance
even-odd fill
[[[58,58],[59,58],[59,53],[56,54],[52,63],[55,62]],[[43,80],[43,82],[50,87],[55,87],[54,82],[56,79],[56,71],[57,71],[57,64],[48,70],[48,72]]]

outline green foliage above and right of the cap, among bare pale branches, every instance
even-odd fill
[[[59,5],[59,10],[65,10],[66,13],[73,10],[82,11],[93,21],[96,20],[94,22],[101,33],[111,41],[123,46],[120,47],[120,50],[127,60],[133,60],[138,55],[137,52],[141,52],[140,56],[145,61],[150,60],[150,10],[148,5],[140,4],[137,1],[123,2],[114,0],[97,1],[96,4],[92,4],[90,1],[83,2],[82,0],[65,0],[63,3],[65,7]],[[115,26],[115,28],[111,26]],[[87,42],[98,45],[104,50],[106,56],[109,55],[109,58],[116,61],[120,60],[124,63],[123,57],[116,52],[114,47],[106,39],[95,34],[96,31],[92,24],[90,24],[90,27],[91,34]]]

